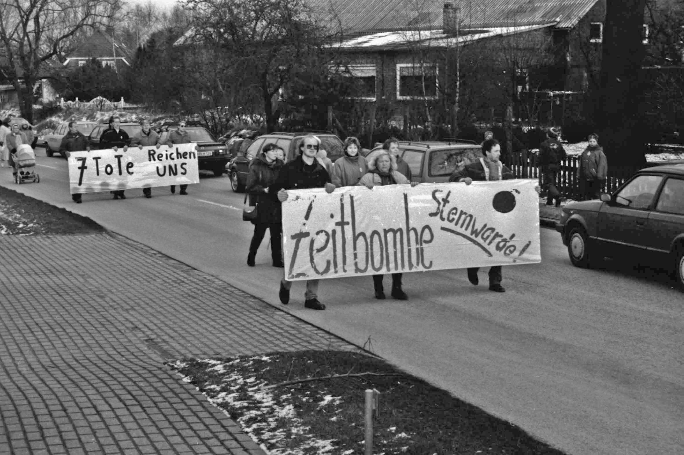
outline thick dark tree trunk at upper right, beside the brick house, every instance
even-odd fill
[[[599,144],[611,173],[625,174],[646,164],[642,105],[642,27],[646,0],[608,1],[603,28]],[[630,169],[631,168],[631,169]]]

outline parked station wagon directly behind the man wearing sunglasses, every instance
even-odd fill
[[[285,151],[286,161],[291,161],[299,155],[299,144],[305,135],[314,134],[321,140],[321,148],[328,153],[328,158],[334,162],[336,159],[344,155],[342,150],[343,142],[336,135],[328,131],[313,132],[313,133],[269,133],[259,136],[255,139],[244,153],[237,153],[237,157],[233,158],[228,164],[228,173],[231,176],[231,187],[234,192],[243,192],[247,184],[247,175],[249,173],[250,162],[254,157],[259,155],[261,148],[266,144],[275,143]]]

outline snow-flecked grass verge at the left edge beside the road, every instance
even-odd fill
[[[0,235],[101,233],[102,226],[84,216],[0,187]]]

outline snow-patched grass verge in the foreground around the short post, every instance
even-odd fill
[[[365,389],[380,391],[373,432],[376,455],[562,454],[365,354],[274,352],[181,359],[170,366],[271,454],[363,454]],[[329,378],[364,372],[382,376]],[[293,382],[302,379],[306,381]]]

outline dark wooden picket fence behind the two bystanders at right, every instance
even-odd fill
[[[542,185],[542,170],[539,168],[538,160],[538,155],[533,153],[529,153],[527,156],[514,153],[504,159],[506,166],[510,168],[517,179],[538,179],[539,184]],[[568,199],[579,200],[580,191],[577,168],[579,168],[579,157],[569,156],[561,161],[556,187],[562,196]],[[603,185],[603,192],[614,192],[635,171],[635,168],[626,166],[610,167]]]

